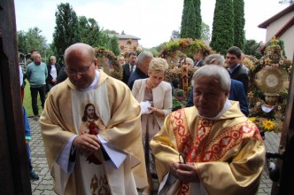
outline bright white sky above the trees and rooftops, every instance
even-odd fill
[[[55,12],[60,3],[72,5],[77,16],[97,20],[99,27],[139,37],[144,48],[168,42],[173,30],[181,27],[183,0],[15,0],[17,30],[30,27],[42,30],[47,43],[52,43]],[[281,12],[288,4],[279,0],[244,1],[246,39],[266,41],[266,29],[259,24]],[[201,1],[202,20],[213,29],[215,0]]]

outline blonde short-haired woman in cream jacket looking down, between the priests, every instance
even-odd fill
[[[134,82],[132,93],[142,106],[141,126],[143,148],[149,187],[143,191],[150,194],[153,183],[151,175],[156,175],[155,158],[151,152],[150,141],[163,126],[166,115],[172,111],[172,86],[164,82],[168,64],[164,58],[153,58],[150,62],[147,79]]]

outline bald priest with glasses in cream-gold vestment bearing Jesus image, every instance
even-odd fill
[[[65,62],[68,79],[50,90],[40,118],[54,190],[137,194],[137,188],[148,185],[140,105],[127,85],[96,69],[95,51],[88,44],[67,48]],[[87,105],[99,118],[89,125],[95,134],[79,130]]]

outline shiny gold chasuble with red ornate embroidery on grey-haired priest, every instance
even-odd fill
[[[199,117],[193,106],[167,116],[164,127],[151,140],[161,183],[170,165],[194,162],[208,194],[255,194],[265,163],[259,129],[241,113],[237,102],[218,120]],[[191,183],[174,183],[173,194],[191,194]]]

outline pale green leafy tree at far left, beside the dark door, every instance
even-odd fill
[[[43,58],[46,58],[48,53],[47,40],[45,36],[41,35],[42,30],[38,27],[30,27],[28,31],[18,31],[18,47],[19,51],[27,54],[31,50],[38,51]]]

